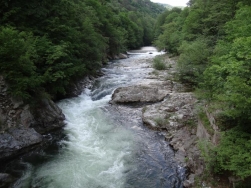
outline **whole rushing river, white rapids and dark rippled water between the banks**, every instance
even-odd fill
[[[60,101],[66,136],[51,149],[22,158],[19,166],[25,170],[13,187],[183,187],[185,169],[175,162],[164,136],[143,126],[136,107],[121,107],[123,112],[109,104],[115,88],[144,80],[152,71],[144,62],[157,54],[113,61],[93,89]]]

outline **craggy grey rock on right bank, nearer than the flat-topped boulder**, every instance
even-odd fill
[[[192,187],[194,177],[200,176],[204,170],[197,146],[196,102],[192,93],[170,93],[163,102],[142,110],[143,122],[152,129],[167,131],[166,139],[175,150],[176,160],[189,168],[191,174],[184,182],[185,187]]]

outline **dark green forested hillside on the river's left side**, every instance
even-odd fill
[[[0,74],[14,97],[57,97],[107,55],[151,44],[164,10],[150,0],[3,0]]]

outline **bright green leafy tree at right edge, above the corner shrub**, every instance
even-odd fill
[[[247,12],[251,13],[250,7],[241,8],[236,18],[227,23],[226,28],[238,29],[229,29],[226,40],[218,43],[212,65],[204,73],[203,84],[212,99],[222,103],[224,114],[238,118],[243,126],[251,120],[251,32],[246,25],[250,22]],[[244,23],[243,26],[239,22]]]

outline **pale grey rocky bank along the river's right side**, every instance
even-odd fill
[[[125,111],[123,106],[136,106],[137,110],[133,111],[137,112],[136,116],[141,116],[146,126],[165,132],[166,140],[176,151],[175,158],[182,166],[188,168],[184,187],[193,187],[196,177],[204,170],[197,141],[205,131],[201,132],[197,126],[197,100],[193,93],[186,92],[189,91],[187,86],[175,81],[174,60],[166,56],[165,63],[168,69],[161,71],[152,68],[152,60],[141,63],[144,63],[144,72],[148,72],[145,78],[135,85],[117,88],[110,103],[117,106],[118,111]],[[137,119],[132,116],[133,118]]]

